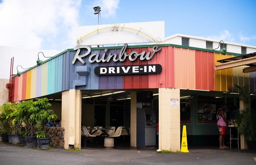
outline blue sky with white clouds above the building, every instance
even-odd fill
[[[0,45],[63,51],[76,27],[164,21],[165,37],[192,35],[256,46],[252,0],[0,0]]]

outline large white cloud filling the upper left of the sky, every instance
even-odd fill
[[[40,49],[75,46],[81,0],[4,0],[0,3],[0,45]],[[73,44],[72,44],[73,43]],[[56,46],[56,45],[55,45]],[[57,46],[56,46],[57,48]]]

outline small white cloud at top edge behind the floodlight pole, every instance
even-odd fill
[[[101,17],[109,18],[116,17],[116,10],[118,9],[119,0],[95,0],[91,5],[87,5],[89,11],[93,7],[99,6],[101,9]]]

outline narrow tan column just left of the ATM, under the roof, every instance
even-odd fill
[[[136,92],[131,92],[131,147],[137,146],[137,101]]]

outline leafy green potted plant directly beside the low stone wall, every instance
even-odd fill
[[[52,109],[48,109],[49,106],[52,106],[48,102],[47,98],[42,98],[33,102],[31,115],[33,118],[37,119],[39,125],[37,126],[36,137],[37,137],[37,147],[39,149],[47,149],[50,147],[50,137],[46,137],[45,125],[54,118],[57,118],[57,115],[53,113]]]

